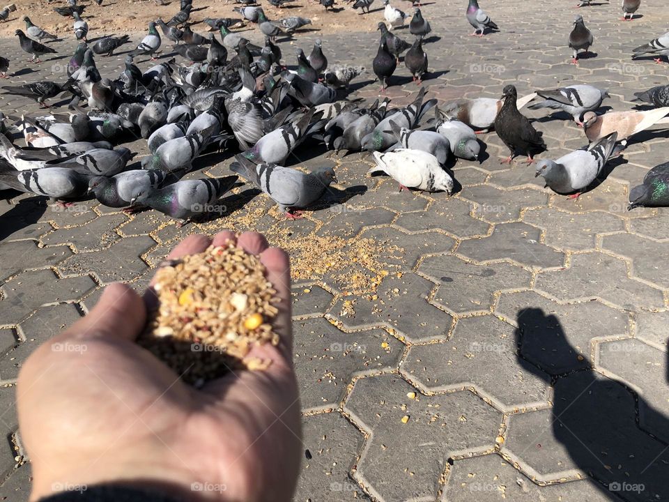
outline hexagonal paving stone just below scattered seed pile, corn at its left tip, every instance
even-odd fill
[[[452,318],[429,303],[435,285],[414,273],[401,277],[388,275],[377,294],[368,297],[345,296],[334,304],[330,314],[351,328],[387,326],[409,340],[443,337]],[[376,296],[376,298],[375,298]]]

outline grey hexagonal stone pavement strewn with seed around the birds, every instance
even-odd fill
[[[509,83],[523,95],[586,82],[609,89],[607,108],[624,110],[634,91],[667,83],[666,63],[629,58],[666,31],[661,0],[645,0],[634,22],[620,20],[617,2],[580,9],[597,57],[578,68],[566,47],[576,1],[487,1],[502,32],[483,39],[468,36],[464,3],[428,0],[423,9],[435,72],[425,85],[440,101],[498,97]],[[307,50],[317,35],[295,46]],[[371,68],[376,40],[353,27],[323,47],[332,62]],[[74,46],[61,43],[60,54]],[[13,82],[51,78],[67,61],[20,70],[26,57],[16,47],[0,42],[19,73]],[[291,63],[292,46],[282,47]],[[98,58],[100,72],[117,75],[122,57]],[[376,98],[372,79],[360,78],[354,96]],[[391,84],[393,105],[417,91],[403,66]],[[12,96],[0,96],[0,108],[36,111]],[[544,131],[540,158],[587,143],[565,116],[525,113]],[[3,199],[0,499],[29,494],[14,404],[26,356],[89,310],[105,284],[144,288],[180,238],[232,228],[265,232],[293,260],[294,360],[311,457],[295,501],[669,500],[669,211],[626,211],[631,185],[666,160],[667,137],[639,135],[577,201],[545,190],[532,168],[500,165],[507,153],[494,133],[481,137],[489,156],[480,164],[452,167],[462,187],[452,197],[398,193],[389,178],[365,174],[366,155],[302,148],[292,165],[334,165],[336,188],[355,190],[295,222],[247,186],[225,199],[222,218],[182,229],[154,211]],[[230,155],[208,155],[205,172],[229,172]]]

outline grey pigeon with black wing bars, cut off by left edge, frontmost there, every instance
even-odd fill
[[[83,197],[89,188],[89,178],[66,167],[44,167],[25,171],[0,170],[0,183],[14,190],[46,195],[54,199]]]

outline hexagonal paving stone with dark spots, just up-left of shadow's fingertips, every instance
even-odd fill
[[[529,287],[532,277],[512,264],[475,265],[449,254],[424,259],[418,271],[441,284],[433,302],[456,313],[488,311],[497,291]]]

